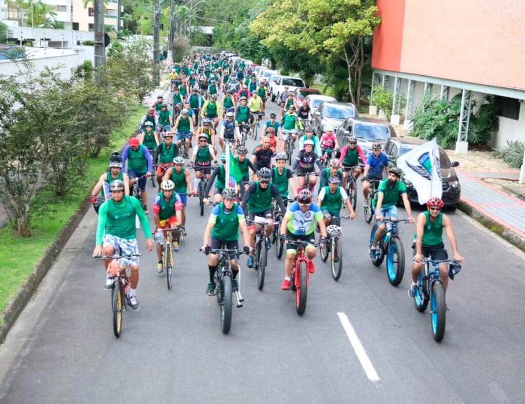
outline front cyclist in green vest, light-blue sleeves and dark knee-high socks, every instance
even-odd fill
[[[211,249],[219,249],[225,246],[228,250],[235,250],[239,248],[239,228],[243,233],[244,250],[249,252],[250,240],[248,238],[248,229],[246,227],[246,219],[244,217],[243,209],[235,203],[237,199],[237,191],[233,188],[224,189],[222,196],[223,203],[215,206],[212,213],[209,215],[208,224],[204,230],[203,246],[201,251],[206,255],[211,252]],[[232,268],[232,280],[234,290],[237,289],[237,274],[240,268],[235,265],[235,256],[233,252],[229,253],[230,265]],[[217,271],[218,256],[211,254],[208,259],[209,282],[206,289],[208,296],[215,294],[214,275]]]

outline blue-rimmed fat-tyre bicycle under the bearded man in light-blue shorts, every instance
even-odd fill
[[[399,223],[409,223],[408,219],[390,219],[384,218],[385,229],[379,239],[379,245],[377,246],[376,258],[372,260],[372,263],[379,267],[386,256],[386,275],[388,282],[391,285],[397,286],[403,280],[405,274],[405,250],[403,243],[398,236]],[[374,242],[375,232],[377,231],[377,223],[372,227],[370,233],[370,246]]]

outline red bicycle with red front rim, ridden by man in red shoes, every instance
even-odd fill
[[[318,247],[319,244],[311,244],[306,240],[293,240],[286,236],[283,237],[288,240],[288,244],[294,246],[297,251],[290,272],[290,279],[292,281],[290,289],[296,294],[297,314],[302,315],[304,310],[306,310],[306,298],[308,295],[308,286],[310,286],[310,273],[316,271],[316,266],[313,264],[313,261],[306,256],[304,250],[306,250],[306,247],[309,245]]]

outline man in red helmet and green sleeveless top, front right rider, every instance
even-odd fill
[[[408,290],[408,295],[410,297],[416,295],[417,278],[423,268],[421,260],[428,256],[433,260],[448,259],[448,253],[443,244],[443,229],[445,229],[448,241],[450,241],[454,259],[457,262],[461,262],[464,259],[458,251],[456,236],[454,235],[454,229],[452,228],[452,221],[442,212],[442,209],[443,200],[437,197],[432,197],[427,200],[427,211],[422,212],[417,216],[416,248],[414,251],[414,263],[412,264],[412,285]],[[448,285],[448,264],[446,262],[439,264],[439,274],[446,290]]]

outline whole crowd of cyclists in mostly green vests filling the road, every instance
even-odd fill
[[[159,95],[143,116],[137,135],[131,137],[122,152],[111,155],[109,169],[92,190],[90,199],[99,215],[93,256],[112,256],[117,251],[121,255],[138,254],[137,221],[140,221],[148,251],[152,251],[153,239],[156,240],[157,271],[162,273],[163,229],[175,229],[173,240],[178,239],[178,232],[187,236],[186,221],[191,221],[186,212],[188,196],[197,196],[199,184],[205,178],[203,201],[214,207],[206,228],[192,231],[203,234],[201,251],[209,254],[206,293],[214,295],[217,255],[211,253],[213,249],[222,246],[230,250],[244,249],[248,255],[247,267],[253,268],[258,226],[255,219],[265,219],[266,234],[270,236],[274,229],[274,211],[280,209],[284,212],[279,224],[283,242],[309,242],[306,254],[313,259],[316,231],[323,248],[328,241],[327,227],[338,223],[343,208],[348,210],[350,219],[356,217],[345,189],[347,182],[363,175],[363,204],[375,208],[376,225],[380,226],[371,243],[371,259],[378,253],[377,243],[385,217],[398,216],[398,200],[403,201],[409,222],[416,224],[411,297],[415,295],[423,257],[431,254],[434,259],[447,258],[443,229],[454,258],[459,262],[463,260],[450,218],[442,211],[443,201],[429,199],[427,210],[414,219],[403,173],[388,167],[379,142],[374,143],[372,152],[365,156],[355,137],[349,137],[348,144],[340,145],[333,128],[315,133],[308,121],[308,102],[298,104],[286,87],[278,100],[279,119],[276,113],[270,113],[263,122],[261,117],[265,116],[268,100],[266,79],[257,81],[254,66],[242,59],[233,61],[226,56],[194,52],[169,69],[168,97]],[[220,101],[219,93],[223,94]],[[261,128],[260,144],[248,156],[246,139],[256,127]],[[297,155],[291,155],[293,148],[289,143],[298,148]],[[234,185],[226,177],[227,163],[242,174],[242,179]],[[158,190],[149,198],[146,185],[152,176]],[[373,198],[369,198],[371,189],[375,190]],[[149,199],[154,231],[146,216]],[[242,248],[239,230],[244,240]],[[180,247],[177,241],[173,242],[174,251]],[[270,242],[266,248],[271,248]],[[295,249],[287,248],[283,290],[290,289],[295,255]],[[237,288],[239,267],[234,257],[230,258],[234,288]],[[139,310],[139,257],[131,260],[131,306]],[[109,262],[104,261],[106,269]],[[446,265],[440,267],[440,271],[446,286]],[[112,284],[112,275],[108,274],[104,288],[111,289]]]

